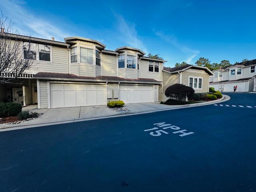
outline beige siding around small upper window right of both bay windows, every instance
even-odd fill
[[[162,81],[163,63],[159,63],[159,72],[149,72],[148,71],[148,61],[140,60],[140,78],[152,78],[157,81]]]

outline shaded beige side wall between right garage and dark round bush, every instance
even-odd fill
[[[170,74],[168,72],[162,72],[163,84],[158,87],[159,101],[166,101],[168,98],[165,96],[165,90],[176,83],[180,83],[180,75],[178,73]]]

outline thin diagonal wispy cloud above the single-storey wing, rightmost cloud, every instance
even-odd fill
[[[186,62],[190,64],[192,60],[200,53],[198,50],[190,49],[187,46],[184,46],[180,43],[178,43],[177,38],[174,35],[166,35],[162,31],[156,31],[155,34],[162,38],[164,41],[172,44],[176,48],[178,48],[180,51],[188,55],[188,58]]]

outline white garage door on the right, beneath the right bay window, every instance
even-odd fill
[[[120,85],[119,98],[124,103],[154,102],[153,86]]]

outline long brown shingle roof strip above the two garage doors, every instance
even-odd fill
[[[100,81],[116,81],[116,82],[152,82],[160,83],[159,81],[151,78],[138,78],[138,79],[125,79],[121,77],[114,76],[97,76],[97,77],[85,77],[85,76],[76,76],[74,74],[66,73],[48,73],[48,72],[38,72],[34,75],[34,78],[61,78],[61,79],[70,79],[70,80],[100,80]]]

